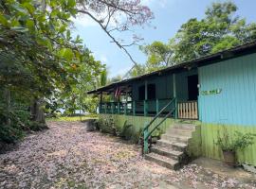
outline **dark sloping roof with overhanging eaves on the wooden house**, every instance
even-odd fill
[[[110,93],[116,90],[117,87],[122,87],[123,90],[129,89],[129,84],[131,84],[134,81],[146,78],[146,77],[154,77],[154,76],[160,76],[167,73],[177,73],[184,70],[190,70],[192,68],[200,67],[203,65],[216,63],[222,60],[229,60],[235,57],[240,57],[243,55],[251,54],[256,52],[256,41],[252,43],[246,43],[243,45],[239,45],[233,48],[230,48],[228,50],[224,50],[215,54],[211,54],[208,56],[201,57],[199,59],[194,60],[188,60],[184,61],[178,64],[175,64],[173,66],[157,70],[155,72],[145,74],[138,77],[132,77],[128,79],[121,80],[119,82],[114,82],[109,85],[103,86],[101,88],[98,88],[93,91],[87,92],[87,94],[99,94],[101,92]]]

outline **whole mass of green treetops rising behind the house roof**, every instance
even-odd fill
[[[256,23],[247,24],[236,12],[232,2],[212,3],[205,18],[190,19],[169,43],[154,42],[140,47],[148,56],[145,73],[255,41]]]

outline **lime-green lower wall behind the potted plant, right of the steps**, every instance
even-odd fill
[[[256,127],[242,127],[235,125],[225,125],[229,132],[229,136],[234,136],[235,130],[242,133],[256,133]],[[201,137],[202,137],[202,155],[212,159],[223,160],[222,151],[215,143],[218,139],[218,131],[220,135],[223,134],[223,125],[216,124],[201,124]],[[238,162],[253,164],[256,166],[256,138],[252,146],[248,146],[245,150],[238,152]]]

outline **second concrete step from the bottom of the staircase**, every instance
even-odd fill
[[[172,158],[177,161],[180,161],[182,159],[182,155],[183,155],[183,152],[181,152],[181,151],[175,151],[174,149],[170,149],[167,147],[161,147],[161,146],[153,146],[151,148],[151,151],[156,154],[166,156],[166,157]]]

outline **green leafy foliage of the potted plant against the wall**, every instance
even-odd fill
[[[254,137],[256,134],[253,133],[242,133],[239,131],[235,131],[234,136],[230,136],[227,128],[224,128],[223,135],[220,136],[218,133],[218,140],[216,145],[220,146],[223,151],[237,151],[243,150],[247,146],[254,144]]]

